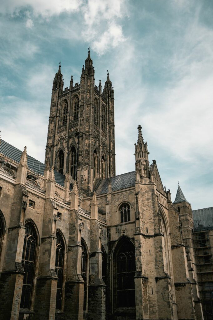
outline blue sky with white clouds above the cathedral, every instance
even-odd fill
[[[141,124],[174,201],[213,206],[212,0],[1,0],[0,129],[44,161],[52,81],[80,74],[90,46],[95,82],[115,91],[116,170],[133,171]]]

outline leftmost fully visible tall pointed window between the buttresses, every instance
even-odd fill
[[[31,222],[27,222],[25,227],[24,247],[21,261],[25,273],[20,308],[30,309],[35,273],[37,236]]]

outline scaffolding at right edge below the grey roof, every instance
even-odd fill
[[[212,230],[212,235],[210,231]],[[211,239],[213,227],[194,229],[196,267],[205,320],[213,320],[213,259]]]

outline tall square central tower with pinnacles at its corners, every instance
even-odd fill
[[[95,181],[115,176],[114,90],[109,72],[102,92],[95,86],[95,68],[88,56],[80,84],[63,88],[61,65],[53,81],[45,155],[46,166],[77,180],[89,195]]]

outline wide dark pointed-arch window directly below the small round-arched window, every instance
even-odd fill
[[[114,254],[114,307],[135,307],[135,249],[127,239],[121,240]]]

